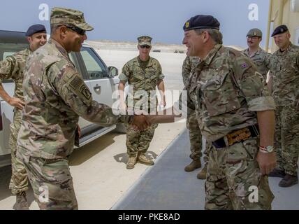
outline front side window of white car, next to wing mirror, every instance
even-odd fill
[[[108,78],[108,73],[99,57],[90,48],[81,48],[83,62],[89,79]]]

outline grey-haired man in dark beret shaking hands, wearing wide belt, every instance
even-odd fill
[[[205,209],[271,209],[274,196],[267,174],[276,163],[270,153],[275,104],[265,79],[245,55],[221,44],[219,22],[211,15],[188,20],[183,43],[187,55],[201,61],[187,85],[189,104],[182,104],[196,109],[201,134],[213,144]],[[147,119],[162,123],[170,116]]]

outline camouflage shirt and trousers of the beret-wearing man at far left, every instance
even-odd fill
[[[5,79],[12,79],[15,82],[14,97],[21,99],[24,102],[23,96],[23,75],[26,60],[31,54],[31,50],[25,49],[14,55],[8,56],[0,62],[0,83]],[[22,123],[22,111],[13,109],[13,123],[10,124],[9,146],[11,150],[11,168],[12,174],[9,188],[16,195],[28,190],[28,177],[22,160],[19,160],[15,155],[17,153],[17,134],[19,133]]]

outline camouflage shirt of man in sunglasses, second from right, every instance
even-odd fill
[[[242,53],[249,57],[254,64],[256,64],[258,71],[263,75],[265,80],[267,80],[267,73],[270,70],[271,54],[261,48],[259,48],[254,55],[249,55],[249,48],[243,50]]]

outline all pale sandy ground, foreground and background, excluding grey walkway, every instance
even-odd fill
[[[119,73],[129,59],[138,55],[136,45],[132,44],[122,50],[114,43],[105,43],[104,49],[96,44],[93,46],[105,64],[116,66]],[[168,51],[152,52],[150,55],[161,63],[166,90],[182,90],[181,69],[186,55],[174,53],[168,46],[165,48]],[[173,50],[175,49],[182,50],[184,46],[173,46]],[[171,104],[172,102],[168,102],[168,106]],[[156,159],[184,127],[184,121],[159,125],[147,156]],[[134,169],[126,169],[128,157],[125,142],[125,134],[109,133],[73,152],[70,168],[79,209],[110,209],[145,170],[150,169],[141,164],[137,164]],[[0,168],[0,209],[12,209],[15,203],[15,197],[8,190],[10,169],[10,166]],[[30,209],[38,209],[31,190],[28,196]]]

